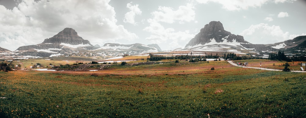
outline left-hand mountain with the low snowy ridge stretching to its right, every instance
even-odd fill
[[[143,45],[143,44],[130,44],[123,45],[117,43],[106,43],[104,46],[91,45],[88,40],[84,40],[77,32],[72,28],[65,28],[58,34],[51,38],[44,39],[40,44],[21,46],[15,53],[20,56],[33,56],[33,57],[53,57],[60,55],[75,55],[75,56],[88,56],[79,54],[82,51],[91,50],[93,52],[105,52],[105,51],[117,51],[120,54],[138,54],[148,52],[162,51],[157,44]],[[131,53],[132,52],[132,53]],[[115,53],[115,52],[113,52]],[[90,55],[89,55],[90,56]],[[103,55],[107,56],[107,55]]]

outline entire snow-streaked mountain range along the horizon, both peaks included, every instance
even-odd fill
[[[211,21],[192,38],[184,49],[175,51],[205,51],[205,52],[250,52],[265,53],[284,50],[287,54],[306,54],[306,36],[298,36],[292,40],[273,44],[252,44],[244,40],[241,35],[232,34],[224,30],[220,21]],[[253,51],[252,51],[253,50]],[[84,40],[72,28],[65,28],[51,38],[44,39],[40,44],[21,46],[17,50],[0,47],[0,55],[10,57],[53,57],[53,56],[120,56],[124,54],[136,55],[141,53],[162,52],[157,44],[143,45],[106,43],[103,46],[93,46],[88,40]]]

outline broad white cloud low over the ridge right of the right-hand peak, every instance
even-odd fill
[[[275,42],[283,42],[293,39],[300,35],[289,34],[281,29],[280,26],[269,26],[268,24],[251,25],[248,29],[242,31],[239,35],[244,36],[244,39],[254,44],[270,44]],[[305,33],[301,34],[305,35]],[[261,38],[258,38],[261,37]]]

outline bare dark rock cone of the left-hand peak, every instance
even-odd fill
[[[54,35],[49,39],[45,39],[43,43],[52,43],[52,44],[67,43],[71,45],[89,44],[90,46],[92,46],[88,40],[84,40],[82,37],[77,35],[77,32],[72,28],[65,28],[57,35]]]

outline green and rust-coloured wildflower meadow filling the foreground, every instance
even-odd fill
[[[0,72],[0,117],[306,117],[305,78],[225,61]]]

